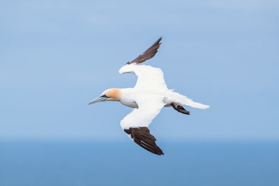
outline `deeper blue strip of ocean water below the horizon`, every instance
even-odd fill
[[[279,142],[1,141],[0,185],[279,185]]]

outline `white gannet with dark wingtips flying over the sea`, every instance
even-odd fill
[[[120,125],[128,137],[142,148],[156,155],[164,155],[163,150],[156,144],[156,138],[150,133],[149,125],[163,107],[173,107],[182,114],[189,115],[183,105],[197,109],[207,109],[209,105],[194,102],[185,95],[167,88],[163,71],[151,65],[143,65],[158,52],[162,37],[151,45],[145,52],[137,56],[133,61],[120,68],[119,73],[132,73],[137,75],[137,82],[133,88],[109,88],[89,102],[116,101],[133,108],[123,118]]]

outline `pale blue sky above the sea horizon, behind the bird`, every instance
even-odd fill
[[[127,140],[131,109],[88,106],[160,36],[147,63],[204,104],[165,108],[162,140],[279,139],[278,1],[5,1],[0,6],[0,138]]]

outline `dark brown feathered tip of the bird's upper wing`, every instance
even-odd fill
[[[160,37],[156,42],[154,42],[154,44],[151,45],[151,47],[146,49],[146,51],[144,53],[140,54],[140,56],[137,56],[136,59],[134,59],[131,62],[128,62],[127,64],[130,64],[130,63],[140,64],[140,63],[144,63],[144,61],[146,61],[146,60],[153,58],[153,56],[155,56],[155,54],[158,52],[158,48],[160,47],[161,40],[162,40],[162,37]]]

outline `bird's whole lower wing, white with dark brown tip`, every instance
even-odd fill
[[[142,148],[156,155],[163,155],[163,151],[156,145],[156,138],[150,134],[149,124],[164,107],[163,98],[156,96],[142,96],[137,99],[138,108],[134,109],[121,121],[121,127],[128,136]]]

